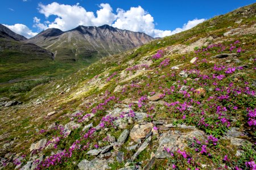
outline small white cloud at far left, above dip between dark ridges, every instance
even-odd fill
[[[24,24],[14,24],[14,25],[3,24],[3,25],[5,25],[5,27],[11,29],[11,31],[18,33],[19,35],[23,35],[26,38],[34,37],[35,35],[38,34],[36,32],[32,32],[30,30],[30,28],[28,28]]]

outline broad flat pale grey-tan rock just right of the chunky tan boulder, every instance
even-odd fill
[[[170,157],[170,154],[164,150],[164,147],[170,148],[172,151],[176,151],[178,148],[184,150],[184,148],[187,147],[187,140],[193,139],[193,137],[196,137],[199,140],[206,139],[204,132],[201,130],[193,130],[188,133],[180,133],[179,131],[168,131],[167,133],[163,133],[162,137],[159,139],[159,147],[155,152],[155,157]]]

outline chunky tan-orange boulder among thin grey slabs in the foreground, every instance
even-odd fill
[[[146,137],[148,133],[150,133],[151,129],[153,128],[153,125],[151,123],[145,124],[145,125],[135,125],[133,129],[130,131],[130,137],[134,141],[137,141],[138,139]]]

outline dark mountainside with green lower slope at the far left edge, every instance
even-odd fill
[[[52,52],[21,40],[26,38],[0,24],[0,84],[46,73],[51,66]]]

